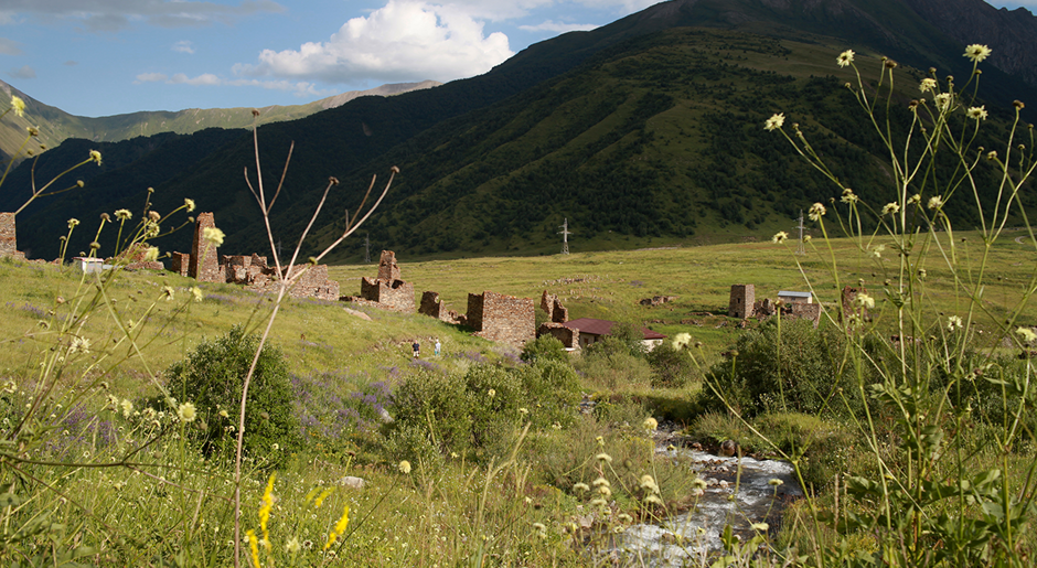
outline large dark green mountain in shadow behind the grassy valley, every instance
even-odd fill
[[[976,13],[990,8],[982,0],[955,2]],[[324,207],[332,213],[314,228],[311,254],[341,233],[342,221],[329,217],[354,211],[371,175],[398,165],[393,191],[365,231],[375,246],[411,257],[553,253],[563,218],[576,232],[574,247],[584,250],[762,238],[788,229],[801,208],[835,196],[783,138],[763,131],[763,120],[779,111],[802,125],[858,194],[885,203],[888,152],[842,87],[855,76],[835,56],[856,50],[867,76],[877,74],[879,56],[900,62],[889,119],[909,124],[907,103],[927,75],[919,69],[934,66],[941,78],[971,73],[963,42],[920,10],[921,0],[675,0],[532,45],[479,77],[265,125],[258,138],[267,187],[276,186],[295,142],[274,226],[290,243],[328,178],[342,180]],[[1024,76],[984,64],[981,94],[991,121],[1011,118],[1014,98],[1034,100]],[[980,142],[993,148],[995,140]],[[153,152],[150,160],[168,150]],[[58,156],[52,171],[74,163],[71,154]],[[153,164],[143,165],[143,158],[103,165],[84,190],[93,208],[84,203],[75,211],[83,219],[116,207],[136,211],[150,184],[160,211],[186,196],[215,212],[227,233],[225,253],[265,250],[258,207],[242,175],[255,170],[252,137],[228,135],[225,146],[199,156],[148,182]],[[116,199],[108,187],[136,194]],[[0,206],[18,199],[4,187]],[[20,243],[53,256],[55,235],[72,216],[62,201],[20,216]],[[949,213],[965,226],[979,221],[966,208]],[[84,224],[82,238],[92,237]],[[185,250],[190,235],[160,246]],[[357,256],[343,249],[338,259]]]

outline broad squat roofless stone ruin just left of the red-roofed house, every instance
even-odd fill
[[[536,336],[533,300],[485,291],[468,294],[468,324],[475,335],[522,347]]]

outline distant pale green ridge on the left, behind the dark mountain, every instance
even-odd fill
[[[411,90],[437,87],[435,81],[382,85],[367,90],[351,90],[306,105],[269,106],[260,108],[259,124],[295,120],[313,112],[340,107],[350,100],[379,96],[389,97]],[[110,117],[81,117],[40,103],[25,93],[0,81],[0,90],[7,97],[17,95],[25,101],[25,116],[0,122],[0,157],[9,159],[25,141],[25,127],[34,126],[41,137],[38,142],[53,148],[68,138],[83,138],[95,142],[117,142],[140,136],[163,132],[188,135],[206,128],[245,128],[253,125],[250,108],[189,108],[178,111],[140,111]],[[34,154],[40,153],[39,143]]]

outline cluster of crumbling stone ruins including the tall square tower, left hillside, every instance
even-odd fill
[[[217,247],[205,243],[202,238],[206,228],[215,226],[212,213],[200,213],[194,225],[194,245],[191,247],[191,254],[172,253],[170,270],[200,282],[235,283],[253,292],[276,293],[281,277],[277,267],[269,266],[267,257],[255,254],[220,256]],[[288,291],[290,297],[339,300],[339,282],[328,279],[328,265],[299,265],[292,269],[291,274],[297,275],[302,270],[304,270],[302,276]]]

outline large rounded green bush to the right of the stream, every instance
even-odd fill
[[[856,378],[841,368],[843,340],[838,330],[787,321],[781,324],[779,354],[779,328],[770,320],[742,334],[727,360],[706,373],[701,403],[715,411],[730,406],[744,416],[857,412]]]

